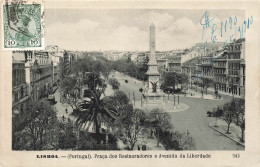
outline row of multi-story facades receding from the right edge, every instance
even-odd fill
[[[212,80],[215,91],[245,96],[245,39],[234,40],[223,49],[207,50],[199,58],[196,76],[199,82]],[[184,68],[183,68],[184,69]]]

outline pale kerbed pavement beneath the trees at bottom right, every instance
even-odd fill
[[[213,121],[213,122],[209,123],[209,127],[216,130],[217,132],[221,133],[223,136],[226,136],[227,138],[229,138],[229,139],[235,141],[236,143],[245,147],[245,143],[240,141],[240,137],[241,137],[241,133],[242,133],[241,129],[236,124],[234,124],[234,123],[230,124],[230,129],[229,129],[230,134],[226,133],[227,132],[227,123],[221,119],[218,119],[217,126],[216,126],[216,122]]]

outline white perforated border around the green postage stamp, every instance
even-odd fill
[[[9,0],[10,2],[10,0]],[[26,0],[25,4],[33,4],[33,3],[38,3],[41,5],[41,46],[40,47],[24,47],[24,48],[5,48],[4,47],[4,11],[3,11],[3,6],[5,5],[6,0],[2,0],[0,2],[0,35],[1,35],[1,50],[3,51],[32,51],[32,50],[44,50],[45,49],[45,26],[44,26],[44,14],[45,14],[45,3],[44,0]]]

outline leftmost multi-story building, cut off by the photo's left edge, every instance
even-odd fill
[[[12,60],[12,110],[23,114],[28,100],[28,84],[25,80],[25,63]]]

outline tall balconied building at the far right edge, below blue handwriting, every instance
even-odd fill
[[[245,96],[245,39],[226,45],[214,58],[213,67],[216,90]]]

